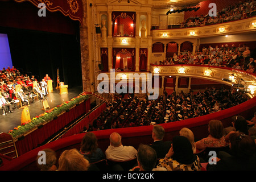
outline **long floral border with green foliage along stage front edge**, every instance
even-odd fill
[[[37,115],[36,117],[32,118],[27,122],[23,122],[22,125],[14,127],[13,130],[9,131],[9,134],[11,134],[13,138],[25,134],[28,131],[38,127],[39,125],[51,121],[54,118],[57,118],[59,115],[71,109],[76,104],[79,104],[80,102],[85,101],[87,99],[88,96],[85,93],[82,93],[79,96],[72,98],[70,101],[66,101],[61,105],[58,105],[56,107],[53,107],[52,109],[47,110],[43,114]]]

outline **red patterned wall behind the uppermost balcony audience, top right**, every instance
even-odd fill
[[[200,15],[207,15],[209,10],[212,9],[211,7],[209,8],[210,3],[216,3],[217,6],[217,12],[221,11],[225,7],[228,7],[230,5],[236,5],[236,3],[240,2],[241,0],[208,0],[208,1],[203,1],[200,2],[200,9],[195,11],[186,11],[184,13],[184,20],[189,18],[189,17],[195,17],[195,16],[200,16]]]

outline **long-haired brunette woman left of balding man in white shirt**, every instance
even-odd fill
[[[88,132],[84,135],[81,142],[80,154],[84,155],[84,158],[89,163],[98,162],[101,159],[105,159],[105,155],[101,148],[98,147],[97,137],[94,133]]]

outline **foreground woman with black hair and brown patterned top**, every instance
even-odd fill
[[[164,167],[167,171],[200,171],[201,164],[197,155],[193,154],[191,142],[183,136],[175,136],[172,139],[172,147],[166,154],[166,158],[160,159],[158,167]]]

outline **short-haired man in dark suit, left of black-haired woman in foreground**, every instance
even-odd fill
[[[150,144],[150,147],[154,148],[158,158],[164,158],[167,152],[171,148],[170,141],[163,141],[164,128],[161,125],[154,125],[152,130],[152,139],[154,143]]]

